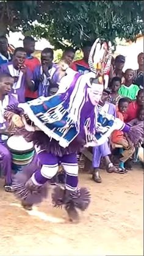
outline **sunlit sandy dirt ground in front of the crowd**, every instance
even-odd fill
[[[0,255],[143,255],[143,170],[101,176],[97,184],[80,175],[92,203],[79,224],[49,200],[30,215],[1,182]]]

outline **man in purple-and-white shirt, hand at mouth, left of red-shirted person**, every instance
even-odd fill
[[[15,49],[12,62],[1,65],[0,73],[7,73],[14,78],[12,93],[17,98],[18,102],[25,102],[25,87],[28,86],[31,90],[34,85],[29,84],[32,79],[31,71],[26,68],[24,61],[26,59],[26,51],[24,48],[19,47]]]

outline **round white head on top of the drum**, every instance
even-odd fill
[[[34,148],[32,142],[27,142],[23,136],[13,135],[7,140],[7,146],[12,152],[29,152]]]

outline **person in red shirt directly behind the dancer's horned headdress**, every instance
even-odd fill
[[[73,70],[78,71],[81,74],[88,73],[90,71],[89,65],[88,65],[88,56],[90,54],[90,50],[92,48],[92,42],[85,42],[82,46],[82,52],[84,54],[83,59],[74,61],[73,65],[71,65],[71,68]]]

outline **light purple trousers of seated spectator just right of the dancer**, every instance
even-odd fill
[[[101,163],[101,158],[110,155],[110,153],[107,141],[98,147],[93,147],[93,167],[98,168]]]

